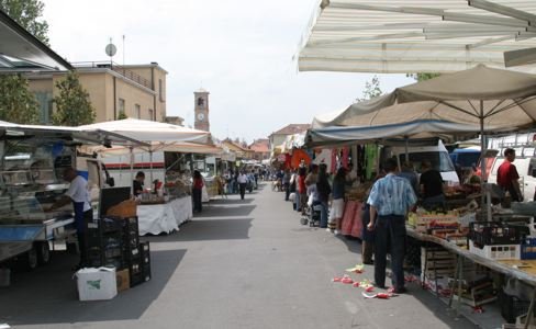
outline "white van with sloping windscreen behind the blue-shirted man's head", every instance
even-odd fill
[[[383,159],[395,157],[399,162],[399,168],[405,162],[405,147],[390,146],[386,147],[382,151]],[[456,173],[456,169],[450,160],[448,150],[443,145],[442,140],[438,140],[437,145],[431,146],[409,146],[407,155],[410,161],[418,174],[422,173],[421,164],[423,161],[429,161],[432,168],[442,173],[442,178],[445,182],[450,184],[459,184],[459,178]]]

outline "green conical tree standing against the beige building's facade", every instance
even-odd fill
[[[56,82],[59,95],[54,98],[56,111],[52,116],[55,125],[79,126],[94,122],[96,113],[89,93],[80,84],[78,75],[69,71],[65,79]]]

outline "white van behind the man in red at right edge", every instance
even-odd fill
[[[524,201],[533,201],[536,193],[536,157],[535,148],[516,148],[514,166],[520,174],[520,188],[523,193]],[[489,183],[496,184],[496,171],[504,162],[504,149],[501,149],[498,157],[493,159],[491,164],[491,174],[488,179]]]

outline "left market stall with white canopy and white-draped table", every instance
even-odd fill
[[[181,126],[141,120],[122,120],[82,126],[129,136],[137,136],[148,146],[90,148],[120,177],[121,185],[131,185],[134,171],[148,170],[148,183],[138,196],[139,234],[161,234],[178,230],[180,224],[192,218],[191,175],[200,170],[205,175],[204,202],[208,190],[213,191],[213,173],[205,172],[206,155],[219,155],[220,147],[208,144],[210,133]],[[126,161],[123,161],[126,160]],[[126,169],[127,174],[122,174]]]

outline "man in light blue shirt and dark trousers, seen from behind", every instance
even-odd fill
[[[375,230],[375,281],[380,288],[386,287],[386,258],[391,253],[392,291],[405,292],[404,248],[405,216],[417,197],[406,179],[397,177],[397,160],[388,159],[383,164],[387,175],[379,179],[370,191],[370,223],[367,229]],[[378,216],[377,216],[378,215]]]

